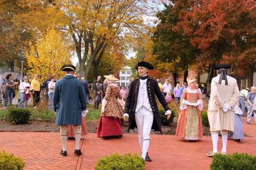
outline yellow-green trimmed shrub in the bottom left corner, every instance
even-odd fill
[[[25,162],[20,156],[8,154],[5,151],[0,152],[0,169],[1,170],[22,170]]]

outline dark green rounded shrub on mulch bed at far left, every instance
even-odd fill
[[[7,122],[18,125],[18,124],[26,124],[29,120],[29,116],[31,115],[30,110],[28,109],[18,109],[11,108],[6,113],[5,117]]]

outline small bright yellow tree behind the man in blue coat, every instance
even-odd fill
[[[25,54],[28,73],[38,74],[42,80],[46,80],[49,74],[61,78],[64,76],[61,66],[71,62],[68,46],[55,29],[48,30],[35,44],[30,43]]]

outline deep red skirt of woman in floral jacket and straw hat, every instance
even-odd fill
[[[119,136],[123,134],[120,118],[100,116],[97,128],[98,137]]]

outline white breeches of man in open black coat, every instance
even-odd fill
[[[135,122],[138,128],[139,138],[143,138],[143,140],[150,139],[150,132],[151,132],[153,120],[154,120],[153,112],[149,111],[144,106],[142,106],[135,113]]]

